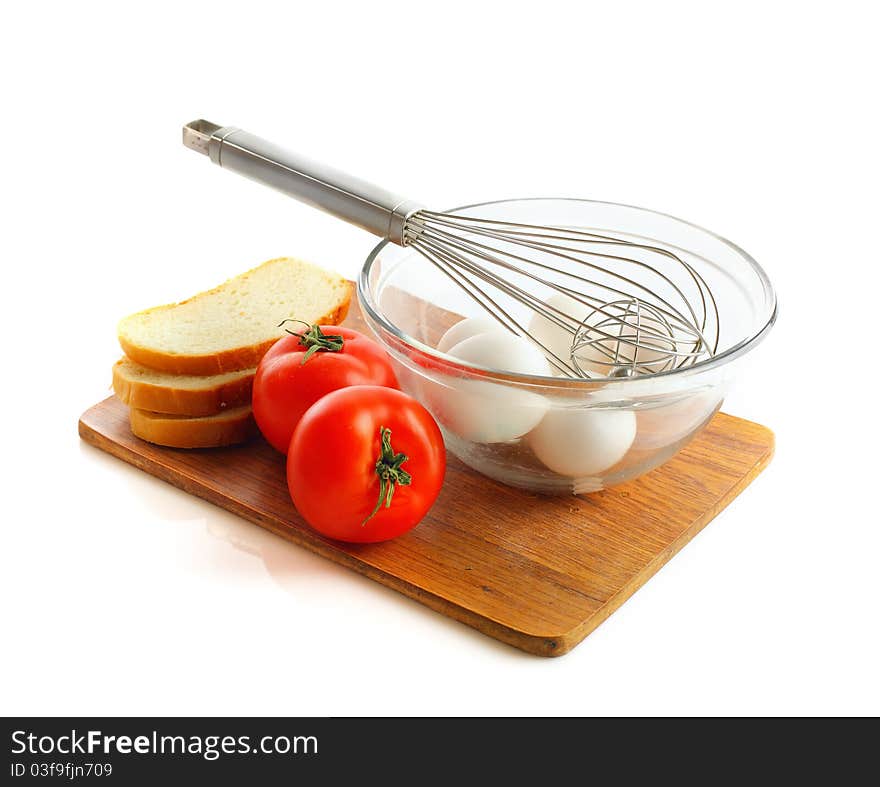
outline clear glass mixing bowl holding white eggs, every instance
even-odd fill
[[[401,386],[437,419],[452,454],[511,486],[594,492],[665,462],[718,410],[740,359],[776,318],[773,288],[755,260],[672,216],[573,199],[506,200],[450,212],[674,249],[706,279],[718,305],[718,351],[688,368],[613,380],[517,375],[437,351],[450,325],[484,312],[417,251],[387,241],[373,249],[358,279],[358,299]]]

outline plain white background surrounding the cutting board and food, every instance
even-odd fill
[[[880,712],[870,4],[132,8],[0,24],[0,711]],[[547,660],[81,444],[121,316],[278,255],[354,276],[374,244],[184,149],[196,117],[434,207],[592,197],[733,239],[780,318],[725,410],[776,458]]]

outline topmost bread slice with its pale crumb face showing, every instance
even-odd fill
[[[256,366],[291,318],[336,324],[348,314],[351,284],[290,257],[264,262],[213,290],[120,321],[131,360],[171,374],[215,375]]]

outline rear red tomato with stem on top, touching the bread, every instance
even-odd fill
[[[254,419],[263,437],[286,454],[303,413],[325,394],[349,385],[398,387],[388,355],[376,342],[335,325],[284,336],[257,367]]]

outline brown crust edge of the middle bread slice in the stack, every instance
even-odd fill
[[[113,392],[124,404],[139,410],[172,415],[203,416],[221,413],[227,408],[249,404],[254,374],[243,374],[235,380],[206,388],[176,388],[173,380],[159,385],[132,379],[124,374],[125,359],[113,366]]]

